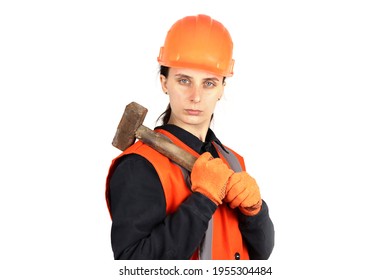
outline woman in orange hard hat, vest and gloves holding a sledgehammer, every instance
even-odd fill
[[[229,32],[206,15],[177,21],[160,49],[169,97],[155,131],[197,156],[192,172],[142,141],[113,160],[106,198],[115,259],[268,259],[274,227],[243,158],[209,128],[225,78]]]

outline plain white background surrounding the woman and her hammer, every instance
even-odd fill
[[[2,1],[1,278],[115,278],[112,138],[131,101],[155,126],[159,48],[204,13],[234,41],[212,128],[269,204],[271,279],[388,279],[386,2]]]

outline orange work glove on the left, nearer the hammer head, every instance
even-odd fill
[[[226,184],[234,173],[220,158],[203,153],[194,163],[191,172],[192,191],[207,196],[216,205],[222,203]]]

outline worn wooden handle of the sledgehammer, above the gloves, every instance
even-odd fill
[[[135,137],[184,167],[188,171],[192,170],[196,157],[172,143],[164,135],[157,133],[144,125],[141,125],[135,132]]]

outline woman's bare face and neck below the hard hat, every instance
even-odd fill
[[[161,75],[160,80],[172,109],[169,123],[194,135],[207,132],[215,105],[223,95],[223,76],[202,70],[170,68],[168,78]]]

